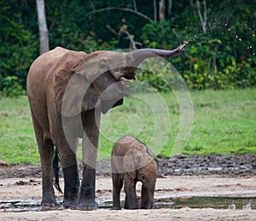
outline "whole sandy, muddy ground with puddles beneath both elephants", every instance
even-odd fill
[[[98,162],[96,201],[99,210],[65,210],[59,205],[44,211],[41,170],[38,165],[0,166],[1,220],[254,220],[256,217],[256,156],[177,156],[159,160],[159,178],[154,209],[112,211],[112,183],[109,160]],[[81,168],[81,165],[80,165]],[[63,189],[63,178],[61,178]],[[137,186],[137,195],[140,195]],[[122,192],[121,200],[125,194]],[[134,219],[135,218],[135,219]]]

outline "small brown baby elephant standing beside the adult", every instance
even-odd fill
[[[135,137],[120,138],[113,146],[111,156],[113,181],[113,209],[119,210],[120,191],[125,181],[125,209],[151,209],[157,178],[157,160],[154,154]],[[141,181],[142,201],[139,206],[136,183]]]

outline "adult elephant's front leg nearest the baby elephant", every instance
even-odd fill
[[[96,190],[96,156],[99,139],[101,113],[99,109],[87,111],[82,115],[84,125],[83,148],[83,181],[79,195],[79,209],[93,210],[97,208]]]

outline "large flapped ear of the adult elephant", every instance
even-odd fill
[[[82,60],[71,57],[73,62],[70,56],[63,56],[62,63],[66,62],[65,65],[55,70],[55,104],[58,112],[65,117],[73,117],[101,105],[99,96],[84,76],[75,73]]]

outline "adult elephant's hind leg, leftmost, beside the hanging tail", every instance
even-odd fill
[[[43,128],[39,125],[38,120],[32,113],[32,120],[34,130],[38,142],[38,150],[41,159],[42,167],[42,182],[43,182],[43,200],[42,206],[55,206],[55,191],[53,189],[52,180],[52,160],[54,156],[54,145],[47,133],[43,131]]]

